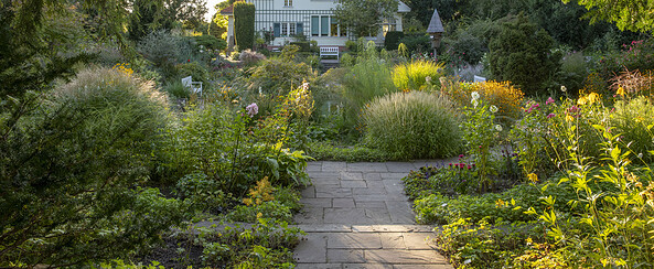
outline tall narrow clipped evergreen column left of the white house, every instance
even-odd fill
[[[234,37],[239,51],[251,49],[255,44],[255,4],[234,3]]]

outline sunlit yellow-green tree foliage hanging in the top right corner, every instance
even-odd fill
[[[562,0],[562,2],[569,3],[570,0]],[[654,12],[652,12],[654,2],[652,1],[573,0],[573,2],[586,7],[588,13],[585,18],[590,19],[590,23],[608,21],[615,23],[622,31],[654,31]]]

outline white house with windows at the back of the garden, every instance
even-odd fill
[[[319,46],[344,47],[345,41],[354,40],[346,29],[342,28],[333,18],[336,0],[247,0],[255,4],[255,31],[274,33],[275,40],[270,46],[281,46],[294,41],[297,34],[303,34],[318,42]],[[384,43],[384,35],[388,31],[403,31],[403,14],[410,9],[399,1],[398,12],[394,18],[386,19],[379,28],[377,36],[368,40],[377,44]],[[227,42],[234,44],[234,13],[233,8],[226,8],[221,14],[228,17]]]

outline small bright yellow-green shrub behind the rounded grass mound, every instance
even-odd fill
[[[440,88],[439,78],[443,75],[442,64],[431,61],[411,61],[393,68],[393,83],[403,90],[427,89],[428,80]]]

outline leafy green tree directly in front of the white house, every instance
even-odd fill
[[[339,0],[334,17],[356,36],[377,35],[384,19],[397,12],[398,0]]]

